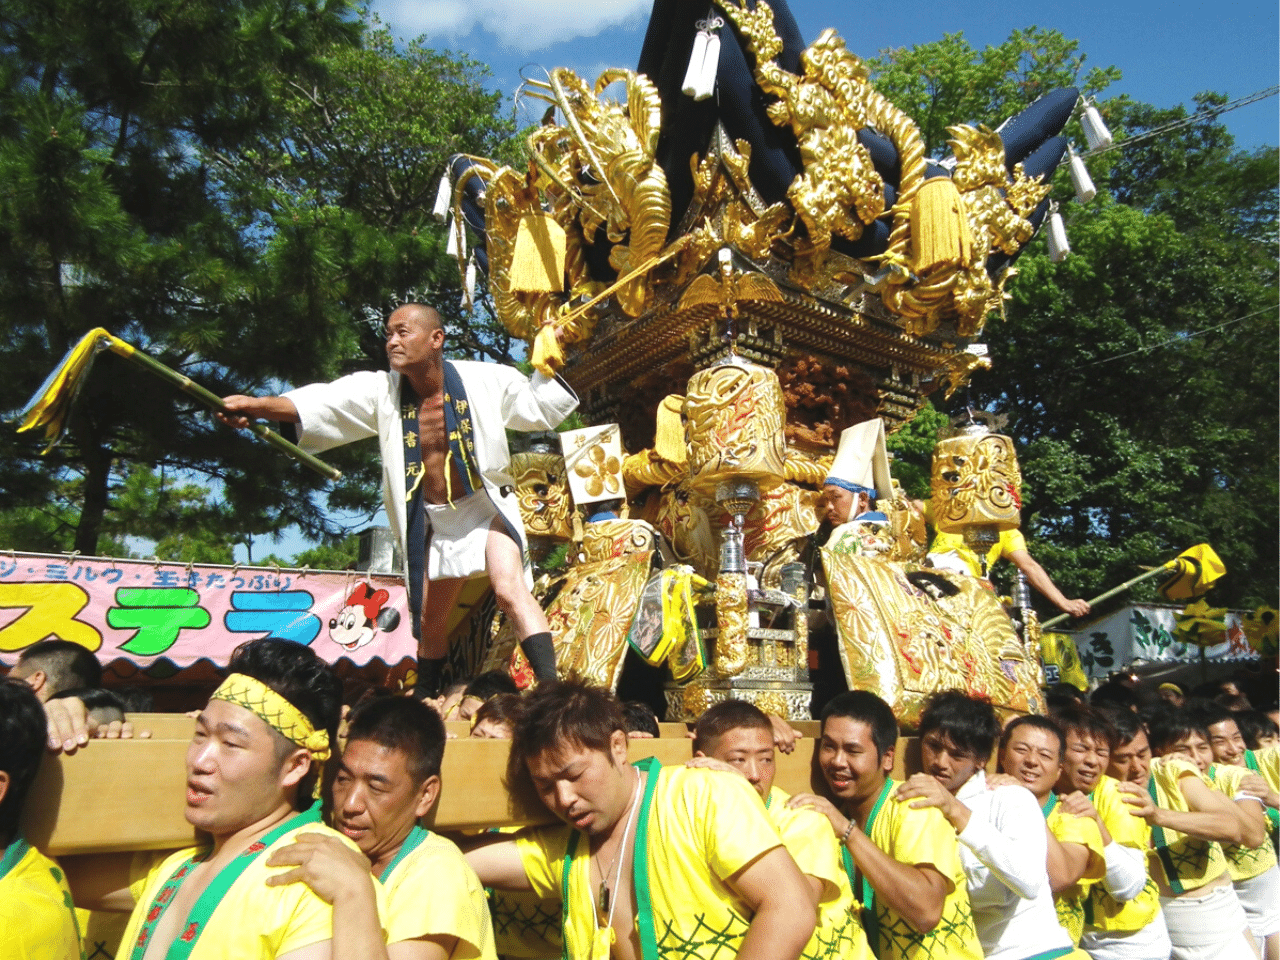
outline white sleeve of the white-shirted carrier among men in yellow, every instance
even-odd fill
[[[1044,815],[1029,790],[997,787],[987,814],[972,815],[959,840],[1023,900],[1037,897],[1048,886]]]

